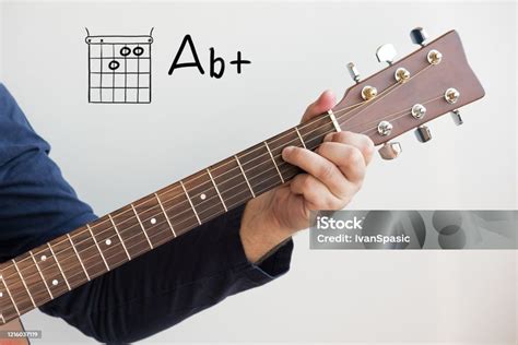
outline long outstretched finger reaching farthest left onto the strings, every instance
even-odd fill
[[[331,162],[317,153],[296,146],[289,146],[282,151],[285,162],[295,165],[320,180],[338,198],[349,194],[351,182],[342,171]]]

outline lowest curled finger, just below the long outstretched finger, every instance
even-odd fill
[[[344,205],[344,201],[333,195],[321,181],[309,174],[297,175],[290,189],[293,193],[304,197],[309,210],[337,210]]]

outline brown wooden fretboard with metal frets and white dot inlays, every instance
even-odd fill
[[[333,120],[323,114],[2,263],[0,323],[291,180],[299,170],[282,150],[315,150],[339,130]]]

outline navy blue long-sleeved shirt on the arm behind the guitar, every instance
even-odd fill
[[[0,262],[97,218],[49,151],[0,84]],[[247,260],[239,238],[243,211],[203,224],[40,310],[99,342],[134,342],[287,272],[291,240],[260,265]]]

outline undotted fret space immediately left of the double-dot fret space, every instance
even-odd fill
[[[32,301],[34,301],[33,306],[49,301],[51,296],[31,254],[24,253],[13,260],[13,264],[15,263],[14,267],[17,269],[17,273],[23,279],[22,283],[25,283],[28,295],[32,297]]]

